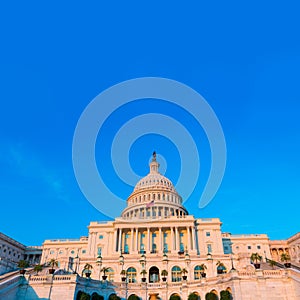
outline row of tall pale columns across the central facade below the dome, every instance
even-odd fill
[[[184,243],[184,248],[187,247],[187,249],[190,250],[196,250],[196,234],[195,234],[195,228],[193,226],[186,226],[186,227],[159,227],[158,230],[150,230],[150,228],[147,228],[147,234],[145,237],[143,237],[143,244],[145,244],[145,248],[141,249],[141,234],[145,233],[144,228],[131,228],[131,229],[116,229],[114,232],[114,250],[117,252],[124,252],[125,247],[125,234],[130,233],[130,245],[129,251],[131,252],[137,252],[140,250],[145,250],[148,253],[153,251],[152,249],[152,243],[151,238],[153,233],[158,232],[158,237],[156,238],[156,242],[158,241],[157,245],[157,251],[163,252],[164,251],[164,241],[165,237],[164,234],[171,234],[171,238],[166,237],[166,243],[168,244],[168,250],[171,251],[179,251],[180,250],[180,233],[183,233],[183,236],[186,238]]]

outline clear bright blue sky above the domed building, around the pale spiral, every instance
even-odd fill
[[[201,157],[199,182],[186,199],[190,213],[219,217],[232,233],[280,239],[298,232],[298,12],[297,1],[1,4],[0,231],[41,244],[86,235],[91,220],[106,219],[73,172],[76,124],[103,90],[154,76],[190,86],[215,111],[227,145],[222,185],[208,206],[197,207],[210,166],[206,137],[178,107],[153,99],[121,107],[107,120],[96,145],[107,185],[122,199],[132,190],[109,161],[117,125],[143,113],[172,115]],[[180,153],[157,134],[132,145],[134,171],[146,175],[153,150],[176,182]]]

